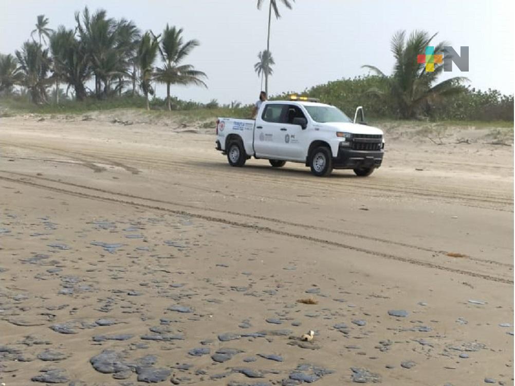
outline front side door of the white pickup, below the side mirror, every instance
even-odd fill
[[[304,161],[305,155],[305,139],[307,137],[306,130],[302,126],[294,124],[295,118],[306,118],[299,106],[296,105],[285,105],[283,111],[281,126],[282,138],[278,149],[281,154],[286,156],[290,160]]]

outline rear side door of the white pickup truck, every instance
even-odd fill
[[[284,124],[281,122],[284,104],[267,103],[256,119],[254,152],[256,157],[285,159],[280,156],[279,140],[284,141]]]

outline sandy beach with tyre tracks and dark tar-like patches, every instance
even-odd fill
[[[513,384],[490,129],[388,123],[372,176],[316,178],[116,114],[0,119],[2,384]]]

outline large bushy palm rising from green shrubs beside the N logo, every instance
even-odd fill
[[[457,94],[465,90],[462,86],[465,77],[453,77],[436,83],[436,79],[443,71],[443,63],[434,63],[434,71],[426,72],[425,63],[418,63],[417,56],[425,52],[425,47],[431,46],[435,35],[415,30],[406,40],[406,31],[396,32],[391,39],[391,52],[396,62],[391,76],[385,75],[380,69],[372,65],[363,68],[371,70],[378,76],[387,80],[388,90],[369,90],[369,93],[385,95],[386,93],[396,100],[402,118],[414,118],[419,108],[427,105],[439,97]],[[434,45],[435,54],[443,54],[447,42]]]

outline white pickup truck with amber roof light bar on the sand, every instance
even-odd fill
[[[304,163],[316,176],[328,176],[333,169],[369,176],[381,166],[384,139],[382,130],[365,124],[361,107],[352,121],[334,106],[292,96],[264,102],[255,120],[219,118],[216,149],[231,166],[243,166],[253,156],[268,159],[273,167]]]

